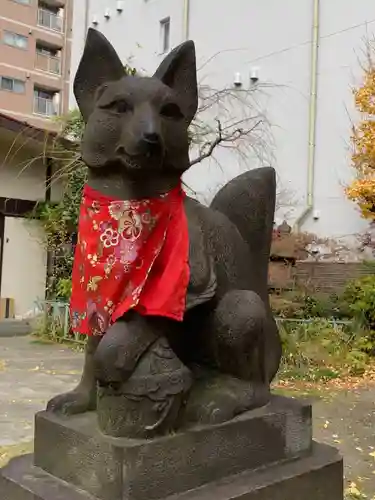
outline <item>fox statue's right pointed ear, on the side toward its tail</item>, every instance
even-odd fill
[[[173,49],[154,74],[180,96],[189,123],[198,108],[197,64],[194,42],[189,40]]]

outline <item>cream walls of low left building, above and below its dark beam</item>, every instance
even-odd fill
[[[0,134],[0,196],[43,201],[46,167],[39,158],[42,146],[29,149],[27,141],[12,146],[9,132],[2,130]],[[55,170],[52,200],[57,201],[61,192],[62,182]],[[40,224],[24,218],[5,217],[1,297],[14,299],[16,315],[26,314],[35,308],[35,301],[44,299],[46,263]]]

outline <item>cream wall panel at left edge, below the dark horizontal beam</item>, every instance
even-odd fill
[[[35,301],[45,297],[47,255],[42,239],[37,222],[5,218],[1,296],[14,299],[16,315],[35,309]]]

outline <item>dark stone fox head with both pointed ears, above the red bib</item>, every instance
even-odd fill
[[[192,41],[172,50],[152,77],[127,76],[109,41],[90,28],[74,94],[91,171],[173,181],[189,168],[188,127],[198,106]]]

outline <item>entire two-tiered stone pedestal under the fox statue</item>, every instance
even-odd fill
[[[342,500],[343,470],[336,450],[313,443],[310,405],[275,397],[230,422],[147,441],[104,436],[94,413],[39,413],[34,456],[2,470],[0,491],[2,500]]]

